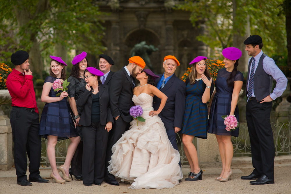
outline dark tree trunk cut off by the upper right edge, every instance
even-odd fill
[[[285,0],[285,16],[288,49],[287,65],[291,67],[291,0]]]

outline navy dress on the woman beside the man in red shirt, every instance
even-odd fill
[[[55,77],[48,76],[45,78],[45,83],[53,83]],[[51,88],[49,91],[49,97],[56,97],[57,93]],[[40,118],[40,130],[39,135],[47,138],[48,135],[58,136],[58,140],[79,136],[69,111],[69,103],[67,97],[61,101],[45,103]]]

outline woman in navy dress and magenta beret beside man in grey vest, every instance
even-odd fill
[[[223,115],[235,115],[239,121],[237,99],[242,89],[244,76],[237,70],[238,60],[242,51],[235,47],[223,49],[223,62],[225,68],[217,73],[215,81],[216,93],[210,102],[209,133],[215,134],[218,142],[219,153],[222,161],[222,172],[215,180],[228,181],[232,175],[230,169],[233,158],[233,144],[231,136],[238,137],[239,128],[234,131],[227,131]]]

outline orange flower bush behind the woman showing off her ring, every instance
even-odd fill
[[[212,76],[212,81],[213,83],[215,82],[217,78],[217,72],[224,68],[224,63],[221,60],[211,60],[211,59],[206,59],[206,64],[208,67],[208,70],[210,72],[210,75]],[[184,73],[184,75],[181,77],[182,81],[186,81],[187,77],[189,76],[189,73],[192,71],[192,67],[188,67],[187,71]]]

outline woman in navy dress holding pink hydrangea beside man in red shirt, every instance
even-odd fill
[[[50,56],[51,69],[49,70],[50,76],[45,79],[42,88],[41,101],[46,102],[41,118],[40,118],[40,131],[39,135],[47,138],[47,157],[52,167],[50,177],[55,179],[56,183],[65,183],[71,181],[69,176],[69,168],[74,152],[80,142],[74,123],[68,108],[67,92],[62,92],[59,97],[56,97],[58,92],[54,92],[52,84],[56,79],[66,78],[65,67],[67,64],[60,58]],[[67,150],[65,163],[58,169],[56,167],[55,146],[58,140],[69,138],[70,144]],[[58,172],[62,172],[63,179]],[[65,180],[64,180],[65,179]]]

